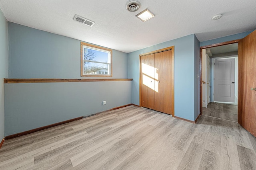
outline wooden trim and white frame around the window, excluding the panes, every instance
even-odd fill
[[[106,74],[86,74],[84,75],[83,74],[83,48],[84,46],[88,46],[88,47],[92,47],[94,49],[99,49],[100,50],[104,50],[104,51],[109,51],[110,52],[110,75],[106,75]],[[112,72],[112,49],[108,49],[108,48],[105,48],[105,47],[100,47],[98,45],[92,45],[92,44],[88,44],[88,43],[84,43],[84,42],[81,42],[81,45],[80,45],[80,64],[81,64],[81,77],[112,77],[113,75],[113,72]]]

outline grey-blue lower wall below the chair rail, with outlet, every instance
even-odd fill
[[[131,81],[17,83],[4,90],[5,136],[132,103]]]

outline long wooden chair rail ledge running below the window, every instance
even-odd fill
[[[4,78],[4,83],[55,83],[55,82],[113,82],[132,81],[132,78],[107,78],[107,79],[59,79],[59,78]]]

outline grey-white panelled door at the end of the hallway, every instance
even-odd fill
[[[214,101],[235,102],[235,59],[214,60]]]

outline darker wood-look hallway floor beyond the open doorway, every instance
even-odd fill
[[[207,108],[202,108],[202,115],[217,117],[235,122],[238,120],[237,106],[231,104],[211,102],[208,104]]]

